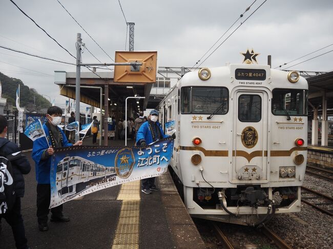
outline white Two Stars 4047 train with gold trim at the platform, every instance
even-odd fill
[[[160,122],[175,120],[172,173],[192,216],[258,225],[300,211],[307,89],[297,72],[254,64],[178,81],[159,104]]]

